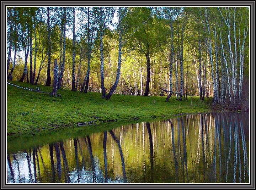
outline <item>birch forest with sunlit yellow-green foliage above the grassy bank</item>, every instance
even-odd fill
[[[249,7],[7,7],[7,80],[249,108]]]

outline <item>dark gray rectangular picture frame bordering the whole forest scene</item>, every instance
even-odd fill
[[[250,6],[249,184],[6,184],[6,6]],[[1,1],[1,189],[255,189],[255,1]]]

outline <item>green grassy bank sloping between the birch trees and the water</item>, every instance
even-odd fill
[[[11,82],[36,89],[29,83]],[[52,87],[37,85],[41,91]],[[75,127],[78,122],[96,120],[96,124],[136,119],[173,117],[175,114],[209,111],[197,97],[177,101],[171,97],[144,97],[114,94],[110,100],[100,93],[58,90],[61,97],[37,93],[7,85],[7,134],[36,133],[61,127]],[[89,126],[90,127],[90,126]]]

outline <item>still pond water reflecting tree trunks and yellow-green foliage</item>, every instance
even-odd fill
[[[7,183],[249,183],[249,113],[122,125],[8,153]]]

